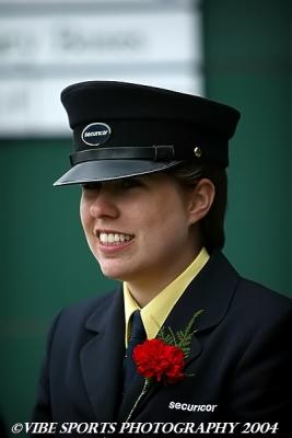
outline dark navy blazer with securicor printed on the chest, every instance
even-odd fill
[[[185,367],[192,376],[153,384],[131,422],[268,422],[279,425],[266,437],[284,436],[292,413],[292,301],[242,278],[215,252],[165,326],[179,331],[200,309]],[[121,288],[62,310],[48,335],[33,420],[125,422],[143,378],[137,374],[121,396],[124,355]]]

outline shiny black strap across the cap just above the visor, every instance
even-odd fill
[[[141,146],[86,149],[70,155],[71,165],[96,160],[175,160],[174,146]]]

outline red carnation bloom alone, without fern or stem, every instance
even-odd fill
[[[132,357],[138,372],[147,379],[163,379],[165,383],[176,383],[185,378],[184,351],[161,339],[149,339],[138,345]]]

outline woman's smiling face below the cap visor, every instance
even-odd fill
[[[196,255],[191,203],[163,173],[83,185],[81,221],[103,274],[129,284],[175,278]]]

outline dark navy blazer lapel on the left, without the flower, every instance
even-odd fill
[[[122,293],[104,299],[89,318],[91,338],[81,350],[81,368],[97,420],[113,422],[121,396],[125,355]]]

